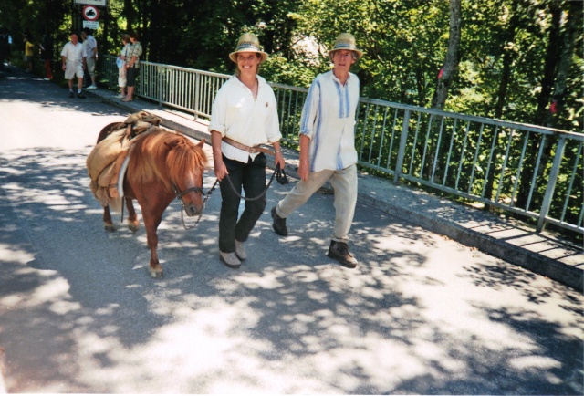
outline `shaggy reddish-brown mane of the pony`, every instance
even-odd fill
[[[159,179],[172,191],[172,182],[184,179],[188,172],[203,172],[207,156],[203,149],[185,136],[156,129],[138,136],[130,151],[134,172],[141,182]]]

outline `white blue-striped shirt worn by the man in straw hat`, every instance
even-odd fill
[[[300,133],[310,138],[310,172],[340,171],[357,162],[355,113],[359,78],[349,73],[342,85],[332,70],[320,74],[308,89]]]

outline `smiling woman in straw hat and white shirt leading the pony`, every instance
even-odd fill
[[[266,195],[254,201],[245,201],[245,210],[239,219],[240,198],[230,182],[241,194],[256,197],[266,189],[266,155],[255,147],[272,144],[276,164],[284,169],[280,149],[279,121],[276,97],[266,80],[257,75],[259,65],[267,58],[259,46],[257,36],[245,33],[239,38],[229,58],[237,65],[235,76],[219,89],[211,110],[211,143],[213,146],[215,176],[221,187],[219,218],[219,256],[226,266],[238,268],[247,258],[244,243],[255,222],[264,212]],[[226,180],[229,178],[229,180]]]

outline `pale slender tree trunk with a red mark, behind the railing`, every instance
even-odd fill
[[[448,88],[453,81],[454,73],[458,68],[458,50],[460,47],[460,6],[461,0],[450,0],[450,34],[448,37],[448,51],[444,65],[438,76],[438,87],[434,93],[433,108],[443,109]]]

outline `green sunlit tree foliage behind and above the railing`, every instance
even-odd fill
[[[444,109],[581,131],[583,5],[461,0],[457,67]],[[16,51],[25,34],[65,43],[81,26],[80,8],[74,0],[4,0],[0,26]],[[102,53],[115,54],[121,33],[137,30],[151,61],[230,73],[229,52],[252,31],[270,54],[262,74],[306,87],[330,67],[327,48],[348,31],[366,53],[354,69],[362,96],[430,107],[450,14],[445,0],[109,0],[95,36]],[[554,100],[556,113],[549,111]]]

